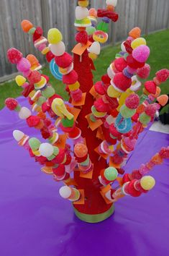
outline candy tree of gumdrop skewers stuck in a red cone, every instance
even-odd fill
[[[124,174],[140,133],[158,117],[160,106],[168,102],[167,95],[160,95],[160,85],[168,80],[169,70],[161,69],[153,80],[147,80],[150,48],[140,28],[134,27],[107,73],[93,85],[93,62],[101,44],[108,40],[109,23],[117,22],[118,14],[114,11],[117,0],[106,0],[106,8],[98,10],[88,10],[88,4],[81,0],[76,7],[77,44],[73,56],[65,51],[57,28],[51,28],[45,38],[41,27],[22,21],[22,30],[45,55],[56,82],[62,80],[65,84],[69,102],[55,93],[35,56],[24,57],[10,48],[7,57],[22,73],[15,80],[23,88],[22,95],[31,110],[14,98],[7,98],[5,104],[42,135],[39,140],[16,129],[14,139],[40,163],[42,172],[55,182],[63,182],[60,196],[73,203],[76,216],[96,223],[111,216],[114,202],[121,197],[139,197],[150,191],[155,179],[147,174],[169,158],[169,147],[161,148],[149,162]],[[142,90],[140,96],[138,90]]]

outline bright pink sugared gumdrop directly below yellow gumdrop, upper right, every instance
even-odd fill
[[[138,46],[132,51],[132,56],[139,62],[147,61],[150,55],[150,48],[148,46]]]

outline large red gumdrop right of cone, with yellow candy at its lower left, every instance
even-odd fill
[[[116,87],[123,92],[130,88],[130,86],[132,85],[131,78],[125,77],[124,74],[121,72],[115,74],[113,82],[114,85],[116,85]]]

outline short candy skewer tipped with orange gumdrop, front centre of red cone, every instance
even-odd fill
[[[88,148],[82,143],[77,143],[74,147],[74,153],[78,162],[78,169],[83,174],[93,171],[93,164],[88,155]]]

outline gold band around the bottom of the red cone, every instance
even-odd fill
[[[88,223],[98,223],[106,220],[106,218],[109,218],[114,213],[114,205],[112,205],[111,208],[109,208],[109,210],[107,210],[105,213],[85,214],[80,213],[78,210],[76,210],[76,208],[74,208],[74,212],[81,221],[85,221]]]

